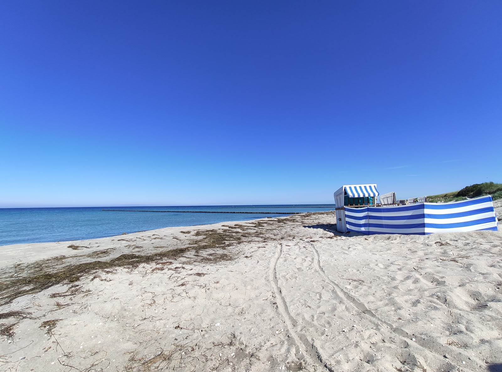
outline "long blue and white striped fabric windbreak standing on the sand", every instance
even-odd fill
[[[491,196],[452,203],[345,207],[347,230],[365,234],[430,234],[497,230]]]

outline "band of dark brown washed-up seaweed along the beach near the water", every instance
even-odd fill
[[[39,293],[60,284],[73,284],[90,274],[114,268],[135,269],[142,264],[157,264],[180,259],[186,263],[230,261],[235,258],[235,253],[227,250],[230,246],[244,239],[264,241],[266,232],[271,230],[279,232],[281,225],[293,221],[298,222],[295,218],[286,217],[250,221],[246,225],[235,224],[224,229],[197,230],[191,235],[186,235],[187,238],[181,242],[185,244],[184,246],[171,249],[167,246],[156,246],[155,252],[122,254],[107,260],[105,258],[113,254],[113,249],[96,251],[87,255],[57,256],[33,263],[18,264],[0,273],[0,306],[9,304],[21,296]],[[76,260],[80,262],[75,263]],[[80,286],[71,286],[66,295],[81,293],[79,291],[81,291]],[[53,295],[65,296],[65,293]],[[4,332],[9,332],[9,330],[4,330]]]

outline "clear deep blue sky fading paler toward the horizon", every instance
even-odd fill
[[[502,3],[4,2],[0,207],[502,182]]]

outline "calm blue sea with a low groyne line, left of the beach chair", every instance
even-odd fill
[[[83,240],[162,227],[245,221],[334,209],[334,204],[0,208],[0,245]],[[198,213],[200,211],[222,213]]]

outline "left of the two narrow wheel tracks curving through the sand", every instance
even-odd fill
[[[279,280],[277,278],[277,263],[282,255],[282,244],[278,244],[278,248],[276,250],[276,256],[271,262],[270,268],[270,282],[272,283],[273,292],[275,294],[275,298],[277,299],[278,309],[281,313],[284,321],[286,322],[286,326],[288,327],[288,331],[291,333],[295,343],[297,346],[301,347],[303,350],[303,354],[305,357],[310,359],[309,361],[312,364],[318,364],[321,367],[326,368],[329,372],[334,372],[334,369],[328,365],[324,358],[322,357],[320,351],[315,346],[314,340],[312,339],[309,342],[307,336],[304,334],[298,333],[296,329],[296,321],[291,315],[289,311],[288,304],[286,303],[286,299],[282,295],[281,287],[279,286]],[[300,351],[302,352],[302,351]]]

